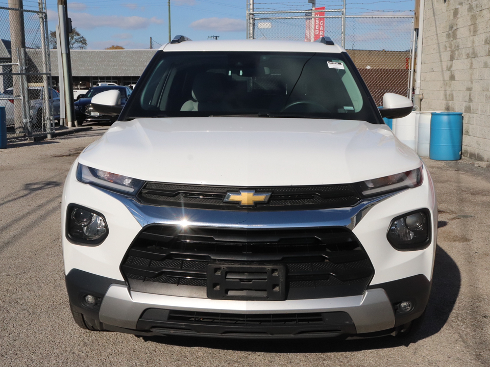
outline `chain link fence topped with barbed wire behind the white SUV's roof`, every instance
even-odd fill
[[[342,24],[342,9],[249,12],[247,36],[310,41],[318,18],[324,21],[325,36],[336,44],[345,44],[378,106],[387,92],[411,97],[412,15],[346,16]]]

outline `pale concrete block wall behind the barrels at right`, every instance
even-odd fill
[[[463,113],[462,154],[490,161],[490,0],[425,0],[422,111]]]

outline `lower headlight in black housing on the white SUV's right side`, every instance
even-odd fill
[[[430,243],[430,214],[427,209],[406,213],[393,219],[386,238],[401,251],[421,250]]]

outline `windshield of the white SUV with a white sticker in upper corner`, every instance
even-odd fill
[[[344,54],[163,52],[121,119],[311,117],[380,123]]]

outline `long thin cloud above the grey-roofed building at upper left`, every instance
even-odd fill
[[[114,27],[120,29],[146,29],[150,24],[163,24],[157,17],[143,18],[138,16],[124,17],[119,15],[101,16],[88,13],[70,13],[73,27],[94,29],[97,27]]]

